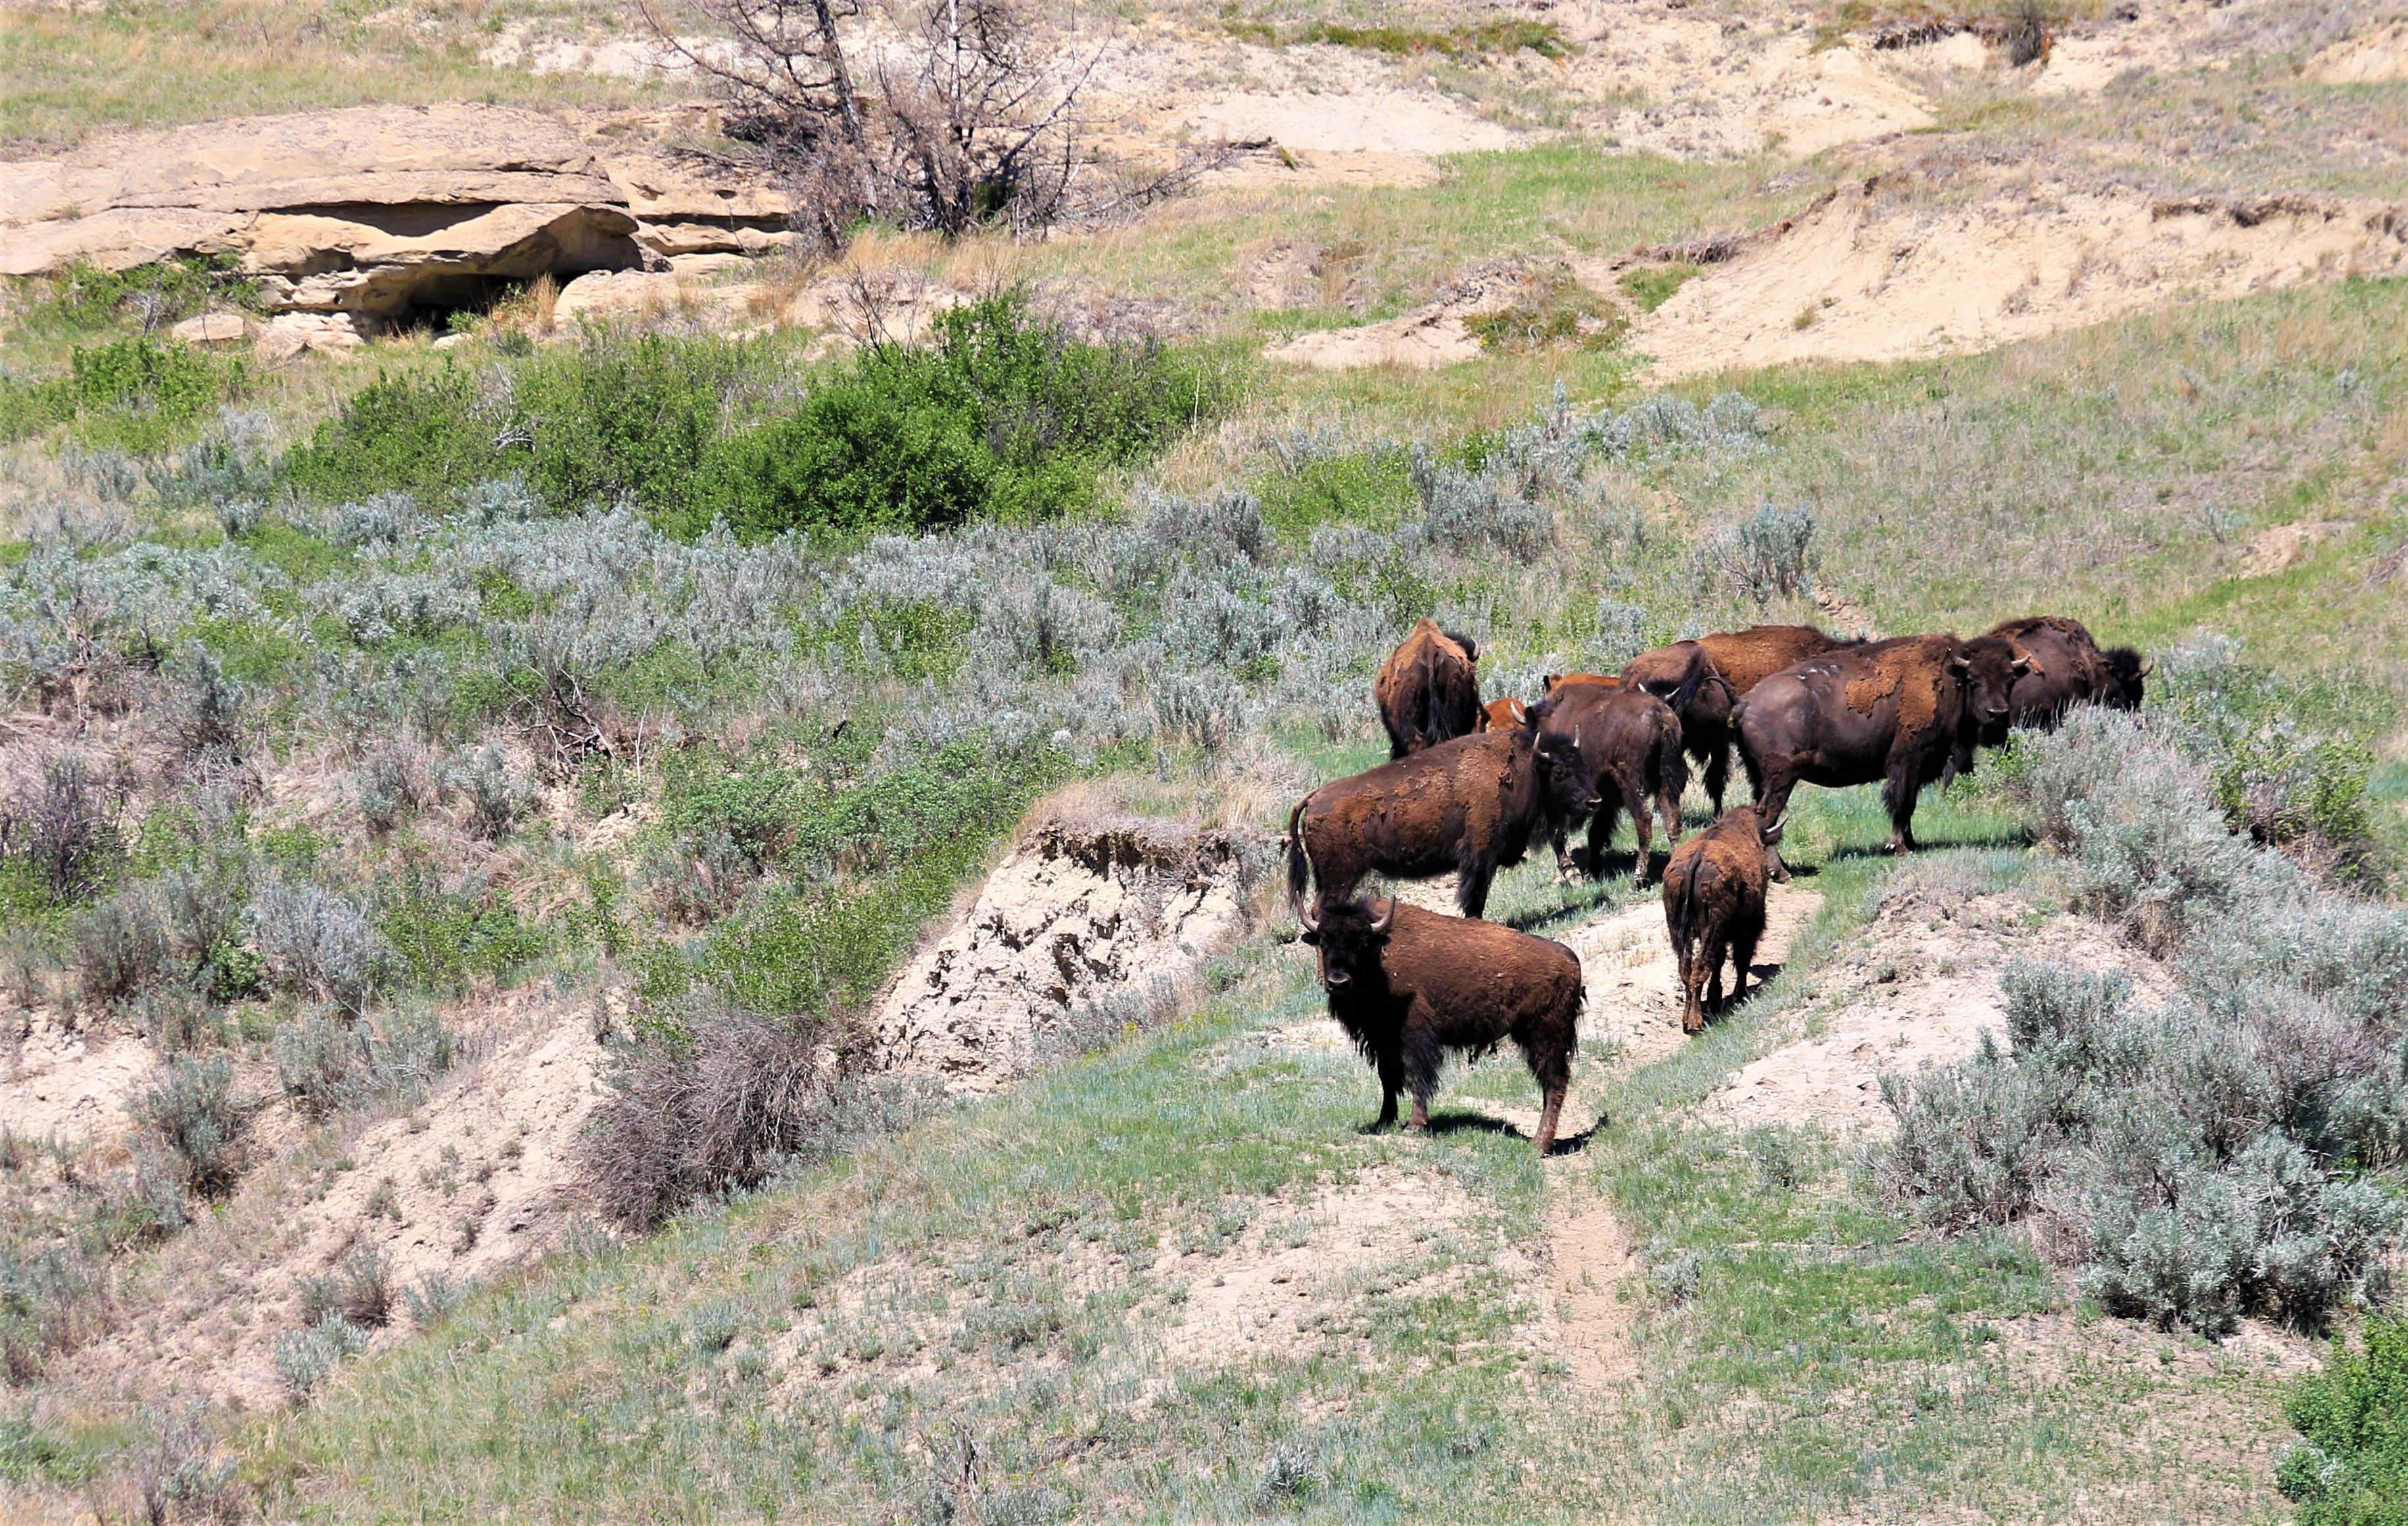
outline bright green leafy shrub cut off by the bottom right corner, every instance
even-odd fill
[[[2302,1377],[2288,1413],[2302,1439],[2276,1485],[2300,1526],[2408,1526],[2408,1321],[2369,1319],[2365,1345]]]

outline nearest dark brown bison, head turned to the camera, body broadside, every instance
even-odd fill
[[[1544,1100],[1531,1143],[1556,1146],[1580,1047],[1580,958],[1495,922],[1440,917],[1399,900],[1298,900],[1305,944],[1320,948],[1329,1016],[1380,1071],[1380,1126],[1397,1093],[1413,1095],[1411,1129],[1430,1124],[1447,1049],[1479,1059],[1505,1040],[1522,1049]]]

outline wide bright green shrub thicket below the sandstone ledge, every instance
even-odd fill
[[[320,501],[407,491],[458,505],[518,477],[549,513],[633,503],[691,539],[1035,520],[1168,445],[1226,385],[1158,344],[1084,344],[1021,296],[946,313],[785,395],[759,342],[595,332],[506,371],[385,375],[284,462]]]

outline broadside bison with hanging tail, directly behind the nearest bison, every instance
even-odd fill
[[[1288,893],[1310,881],[1315,905],[1351,900],[1365,874],[1459,876],[1454,905],[1488,907],[1488,881],[1529,852],[1541,811],[1541,761],[1529,727],[1457,737],[1346,780],[1288,811]]]

